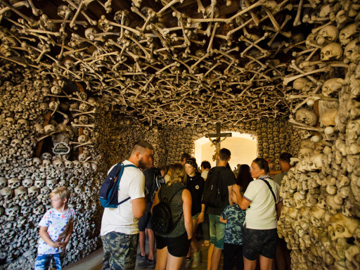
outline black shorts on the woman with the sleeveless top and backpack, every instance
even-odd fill
[[[175,238],[156,236],[156,248],[162,250],[167,247],[167,251],[174,257],[186,257],[190,248],[191,239],[188,240],[188,233]]]

